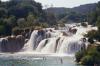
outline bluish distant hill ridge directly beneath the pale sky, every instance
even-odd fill
[[[85,4],[85,5],[80,5],[74,8],[64,8],[64,7],[52,7],[52,8],[48,8],[46,9],[46,11],[48,13],[54,13],[54,14],[65,14],[65,13],[69,13],[69,12],[77,12],[77,13],[81,13],[81,14],[86,14],[90,11],[95,10],[96,8],[96,3],[92,3],[92,4]]]

